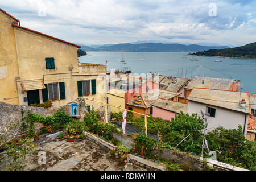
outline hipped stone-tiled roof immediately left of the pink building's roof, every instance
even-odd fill
[[[139,96],[137,96],[137,98],[139,101],[141,101],[140,104],[136,104],[134,100],[131,100],[127,102],[127,105],[147,109],[148,107],[151,107],[151,105],[158,99],[158,94],[156,94],[156,92],[142,93]]]

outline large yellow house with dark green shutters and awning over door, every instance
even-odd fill
[[[84,95],[106,102],[106,66],[79,63],[80,46],[22,27],[1,9],[0,31],[0,102],[62,106]]]

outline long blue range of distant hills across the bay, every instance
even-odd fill
[[[226,46],[200,46],[197,44],[183,45],[183,44],[163,44],[163,43],[143,43],[143,44],[115,44],[112,46],[101,46],[91,48],[82,46],[86,51],[123,51],[123,52],[196,52],[209,49],[223,49]]]

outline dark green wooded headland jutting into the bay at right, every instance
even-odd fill
[[[256,58],[256,42],[234,48],[225,48],[219,50],[210,49],[208,51],[203,52],[199,51],[193,53],[193,55]]]

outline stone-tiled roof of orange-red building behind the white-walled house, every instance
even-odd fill
[[[204,80],[204,84],[202,84],[202,80]],[[229,90],[230,86],[233,84],[235,80],[226,79],[226,78],[211,78],[211,77],[201,77],[195,76],[186,86],[186,89],[196,88],[208,88],[208,89],[221,89],[221,90]]]

